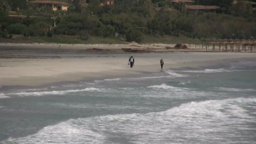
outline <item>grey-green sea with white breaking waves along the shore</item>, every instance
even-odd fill
[[[9,89],[0,144],[256,144],[256,61]]]

